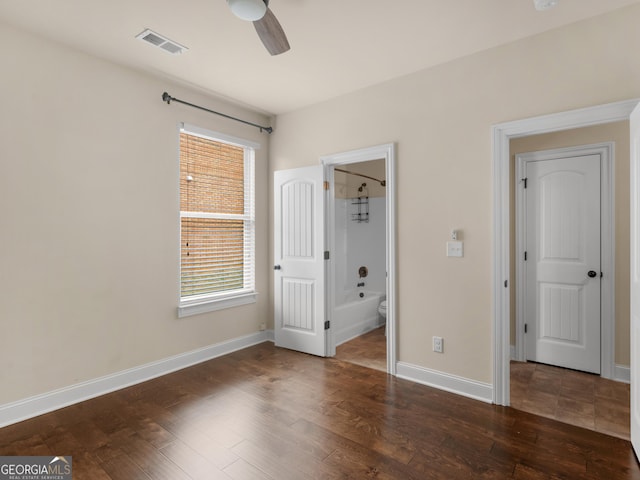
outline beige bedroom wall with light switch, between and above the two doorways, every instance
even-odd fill
[[[400,361],[492,382],[491,126],[640,97],[639,22],[635,5],[278,117],[272,170],[396,142]]]

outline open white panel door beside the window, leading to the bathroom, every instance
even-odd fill
[[[276,346],[326,356],[322,165],[274,175]]]

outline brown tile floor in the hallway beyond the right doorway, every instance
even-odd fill
[[[511,406],[629,439],[629,385],[541,363],[511,362]]]

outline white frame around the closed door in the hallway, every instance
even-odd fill
[[[600,156],[600,376],[615,378],[615,146],[602,142],[576,147],[555,148],[516,156],[516,345],[514,358],[526,361],[524,338],[526,275],[526,198],[521,180],[529,162],[559,157]]]

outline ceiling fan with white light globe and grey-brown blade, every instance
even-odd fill
[[[280,22],[269,8],[269,0],[227,0],[233,14],[253,26],[271,55],[280,55],[291,47]]]

